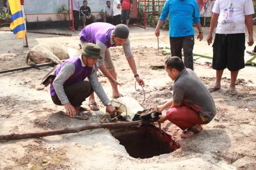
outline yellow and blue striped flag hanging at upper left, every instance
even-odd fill
[[[23,19],[22,6],[20,0],[9,0],[9,6],[11,10],[11,21],[10,29],[16,35],[16,39],[23,39],[26,37],[26,24]]]

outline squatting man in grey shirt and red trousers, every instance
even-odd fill
[[[165,63],[168,76],[174,80],[174,96],[171,101],[158,105],[159,112],[170,107],[166,116],[160,116],[159,123],[166,120],[183,130],[181,137],[193,137],[203,130],[216,115],[212,96],[194,71],[186,69],[179,57],[171,57]]]

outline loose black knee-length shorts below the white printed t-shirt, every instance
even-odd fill
[[[238,71],[245,67],[245,33],[216,33],[212,46],[214,70]]]

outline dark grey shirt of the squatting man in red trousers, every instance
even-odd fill
[[[191,69],[184,69],[174,81],[174,103],[184,103],[210,122],[216,107],[207,88]]]

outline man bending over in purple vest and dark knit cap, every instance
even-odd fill
[[[102,58],[98,60],[97,67],[109,79],[114,98],[122,95],[117,88],[117,85],[120,85],[120,83],[117,82],[117,73],[115,73],[115,68],[110,57],[109,48],[112,46],[123,46],[123,51],[125,52],[126,59],[133,71],[134,78],[139,85],[144,86],[143,80],[137,73],[128,36],[129,28],[126,25],[118,24],[117,26],[114,26],[109,23],[93,23],[87,25],[80,33],[80,43],[83,49],[87,42],[92,42],[93,44],[100,46]],[[93,94],[89,97],[89,107],[95,110],[98,109]]]

